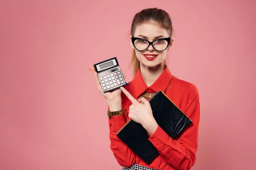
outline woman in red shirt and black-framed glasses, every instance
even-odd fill
[[[108,101],[111,150],[123,170],[188,170],[195,164],[200,116],[198,89],[173,77],[167,68],[166,53],[173,41],[169,14],[157,8],[144,9],[135,15],[131,26],[134,79],[129,85],[103,93],[93,65],[90,67],[99,91]],[[170,138],[152,115],[148,100],[158,90],[166,91],[166,95],[192,120],[177,140]],[[160,153],[150,165],[116,136],[129,119],[147,130],[148,140]]]

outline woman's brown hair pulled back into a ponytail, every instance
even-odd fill
[[[157,8],[143,9],[142,11],[135,14],[131,24],[131,36],[134,36],[135,29],[138,25],[148,22],[157,23],[169,32],[170,37],[172,36],[172,20],[169,17],[169,14],[166,11]],[[164,64],[167,65],[166,59],[164,60]],[[132,51],[130,67],[131,66],[133,69],[134,77],[137,74],[138,69],[140,68],[140,61],[136,57],[135,49],[133,49]]]

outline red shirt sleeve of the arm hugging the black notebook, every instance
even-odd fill
[[[157,148],[160,155],[178,170],[189,170],[195,164],[195,154],[198,148],[198,127],[200,119],[200,104],[198,89],[191,84],[185,94],[187,101],[185,114],[192,124],[184,130],[177,140],[172,139],[160,126],[149,141]]]

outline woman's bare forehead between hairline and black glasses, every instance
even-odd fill
[[[135,29],[134,37],[139,35],[146,36],[148,39],[154,39],[154,37],[161,35],[164,37],[169,37],[168,31],[155,23],[143,23],[138,25]]]

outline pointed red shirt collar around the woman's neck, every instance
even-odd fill
[[[165,65],[165,69],[163,73],[157,78],[157,80],[150,86],[152,90],[155,92],[161,90],[165,91],[167,85],[169,85],[169,82],[172,79],[172,74],[169,71],[169,69]],[[135,75],[134,79],[134,90],[136,97],[140,96],[145,90],[147,90],[149,87],[145,84],[143,77],[141,76],[140,68],[137,71],[137,74]]]

